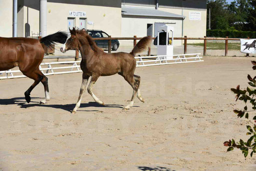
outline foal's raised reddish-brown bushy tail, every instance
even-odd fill
[[[130,54],[135,56],[135,54],[147,50],[148,47],[150,47],[151,42],[152,42],[152,37],[151,36],[147,36],[147,37],[141,38],[138,41],[138,43],[133,47],[133,49],[131,50]]]

